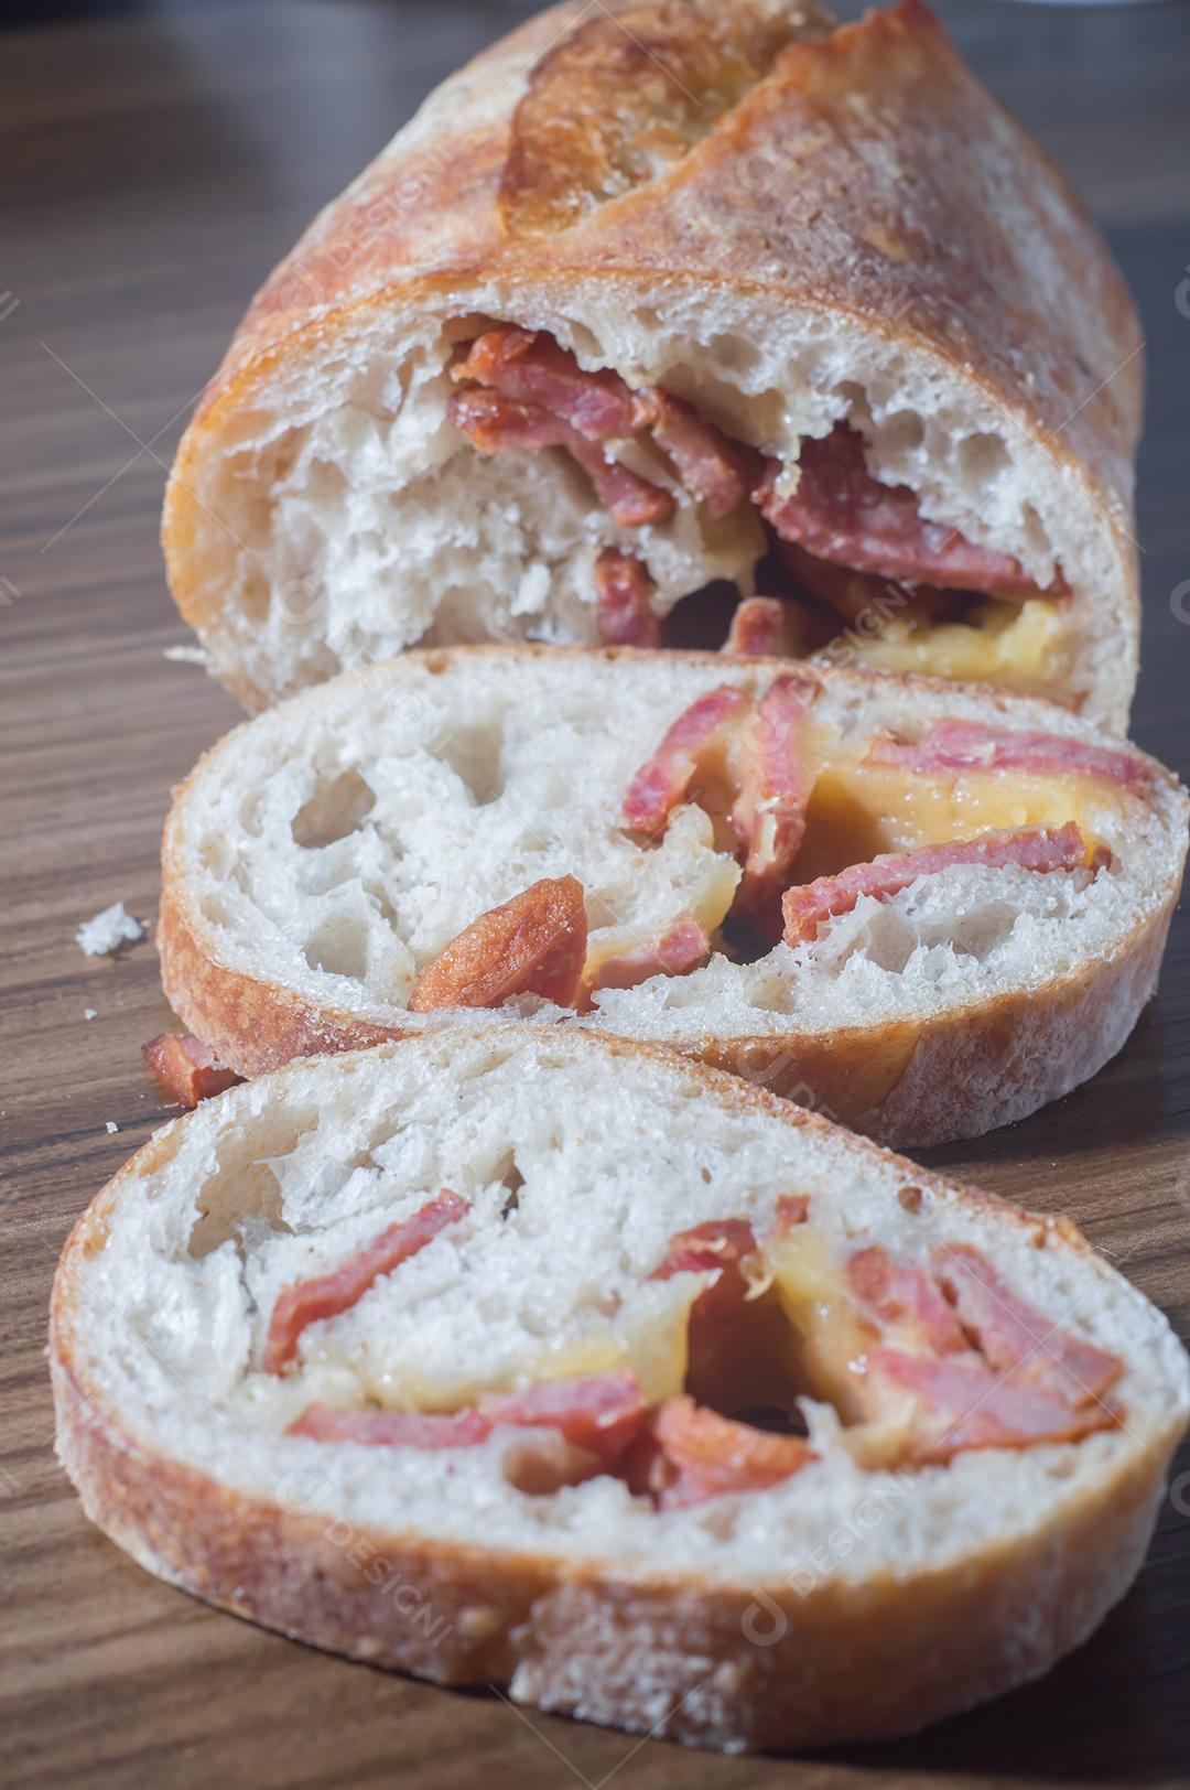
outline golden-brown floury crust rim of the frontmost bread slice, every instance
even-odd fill
[[[673,1063],[623,1040],[598,1047]],[[682,1074],[741,1115],[830,1129],[700,1065]],[[1036,1677],[1092,1632],[1140,1566],[1179,1416],[1036,1532],[945,1570],[857,1584],[830,1563],[737,1586],[363,1530],[304,1473],[276,1498],[234,1493],[122,1425],[77,1330],[77,1257],[102,1248],[122,1185],[184,1122],[150,1140],[79,1219],[54,1283],[50,1373],[59,1457],[86,1514],[147,1570],[209,1604],[442,1684],[508,1684],[521,1700],[594,1722],[777,1749],[913,1733]],[[834,1135],[848,1155],[875,1147]],[[1027,1226],[1045,1248],[1092,1255],[1068,1223],[902,1167],[913,1185]]]

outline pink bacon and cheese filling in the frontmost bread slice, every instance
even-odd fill
[[[301,1375],[306,1344],[326,1348],[338,1316],[469,1210],[442,1190],[329,1273],[285,1287],[259,1368]],[[648,1282],[675,1280],[687,1283],[682,1305],[633,1326],[626,1301],[619,1337],[574,1339],[549,1377],[397,1409],[361,1387],[354,1405],[306,1405],[290,1434],[419,1450],[494,1441],[524,1493],[610,1473],[666,1511],[762,1491],[814,1462],[803,1400],[832,1407],[843,1446],[873,1470],[1075,1443],[1124,1421],[1109,1396],[1120,1359],[1018,1298],[970,1244],[920,1264],[875,1242],[841,1253],[814,1228],[809,1196],[786,1194],[759,1237],[743,1217],[675,1235]]]

